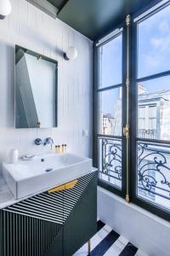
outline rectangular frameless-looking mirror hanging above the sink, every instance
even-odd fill
[[[58,62],[15,46],[15,128],[57,126]]]

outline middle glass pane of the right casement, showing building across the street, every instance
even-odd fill
[[[170,76],[138,84],[138,137],[170,140]]]

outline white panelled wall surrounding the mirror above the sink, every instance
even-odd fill
[[[21,154],[50,152],[35,146],[36,137],[53,137],[69,151],[90,156],[92,151],[93,43],[54,20],[26,0],[11,0],[12,13],[0,20],[0,161],[11,148]],[[59,61],[59,125],[53,129],[14,129],[14,44]],[[76,46],[76,61],[65,61],[63,52]],[[88,137],[82,137],[82,130]]]

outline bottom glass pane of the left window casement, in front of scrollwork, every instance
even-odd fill
[[[99,178],[122,188],[122,140],[99,138]]]

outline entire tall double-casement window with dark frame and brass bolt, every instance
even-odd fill
[[[170,220],[170,3],[130,23],[95,48],[99,185]]]

